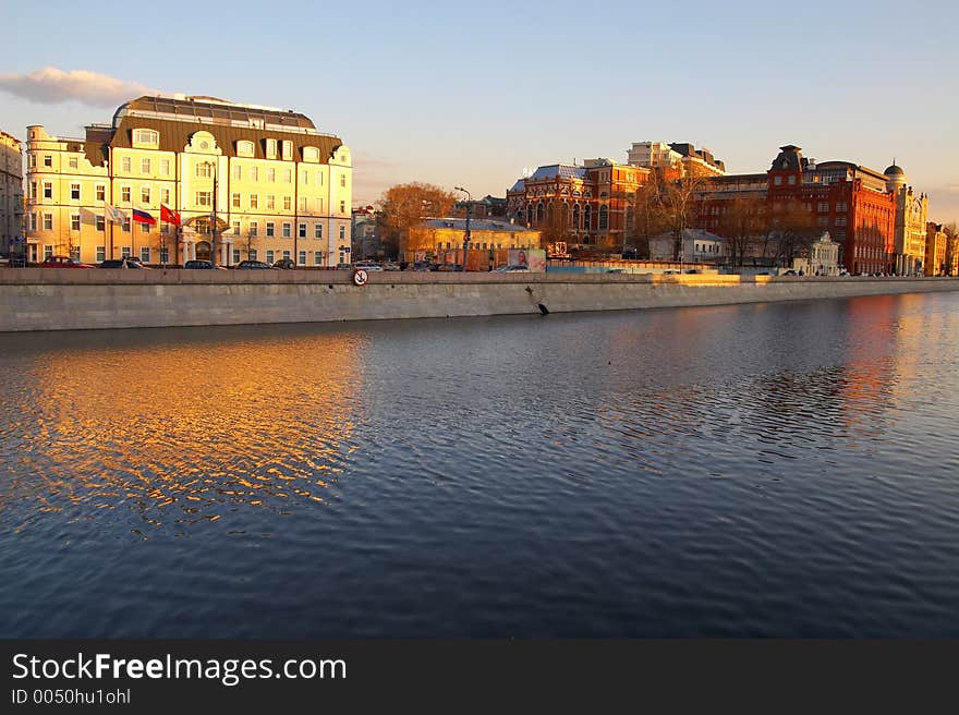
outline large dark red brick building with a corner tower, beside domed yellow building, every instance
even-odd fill
[[[764,174],[709,179],[699,206],[700,228],[721,235],[730,199],[758,198],[770,218],[789,208],[804,211],[811,230],[828,231],[840,244],[839,260],[850,272],[893,272],[896,197],[889,177],[849,161],[816,163],[789,144],[779,147],[763,179]],[[768,229],[775,228],[770,220]]]

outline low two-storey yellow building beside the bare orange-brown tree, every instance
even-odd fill
[[[463,247],[466,220],[462,218],[435,218],[410,228],[409,235],[400,243],[403,260],[414,260],[415,253],[433,256]],[[507,221],[473,219],[470,221],[470,249],[538,249],[541,231]]]

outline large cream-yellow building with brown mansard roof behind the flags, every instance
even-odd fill
[[[335,266],[350,259],[352,173],[347,146],[304,114],[141,97],[82,140],[27,128],[27,241],[39,259]],[[108,220],[107,205],[125,220]],[[181,227],[161,220],[161,205]],[[156,223],[133,221],[134,209]]]

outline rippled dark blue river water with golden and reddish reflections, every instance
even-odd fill
[[[959,637],[959,293],[0,335],[0,637]]]

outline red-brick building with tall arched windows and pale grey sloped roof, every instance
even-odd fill
[[[507,215],[541,231],[546,243],[566,242],[573,255],[621,250],[631,229],[636,190],[650,173],[609,159],[539,167],[507,192]]]

